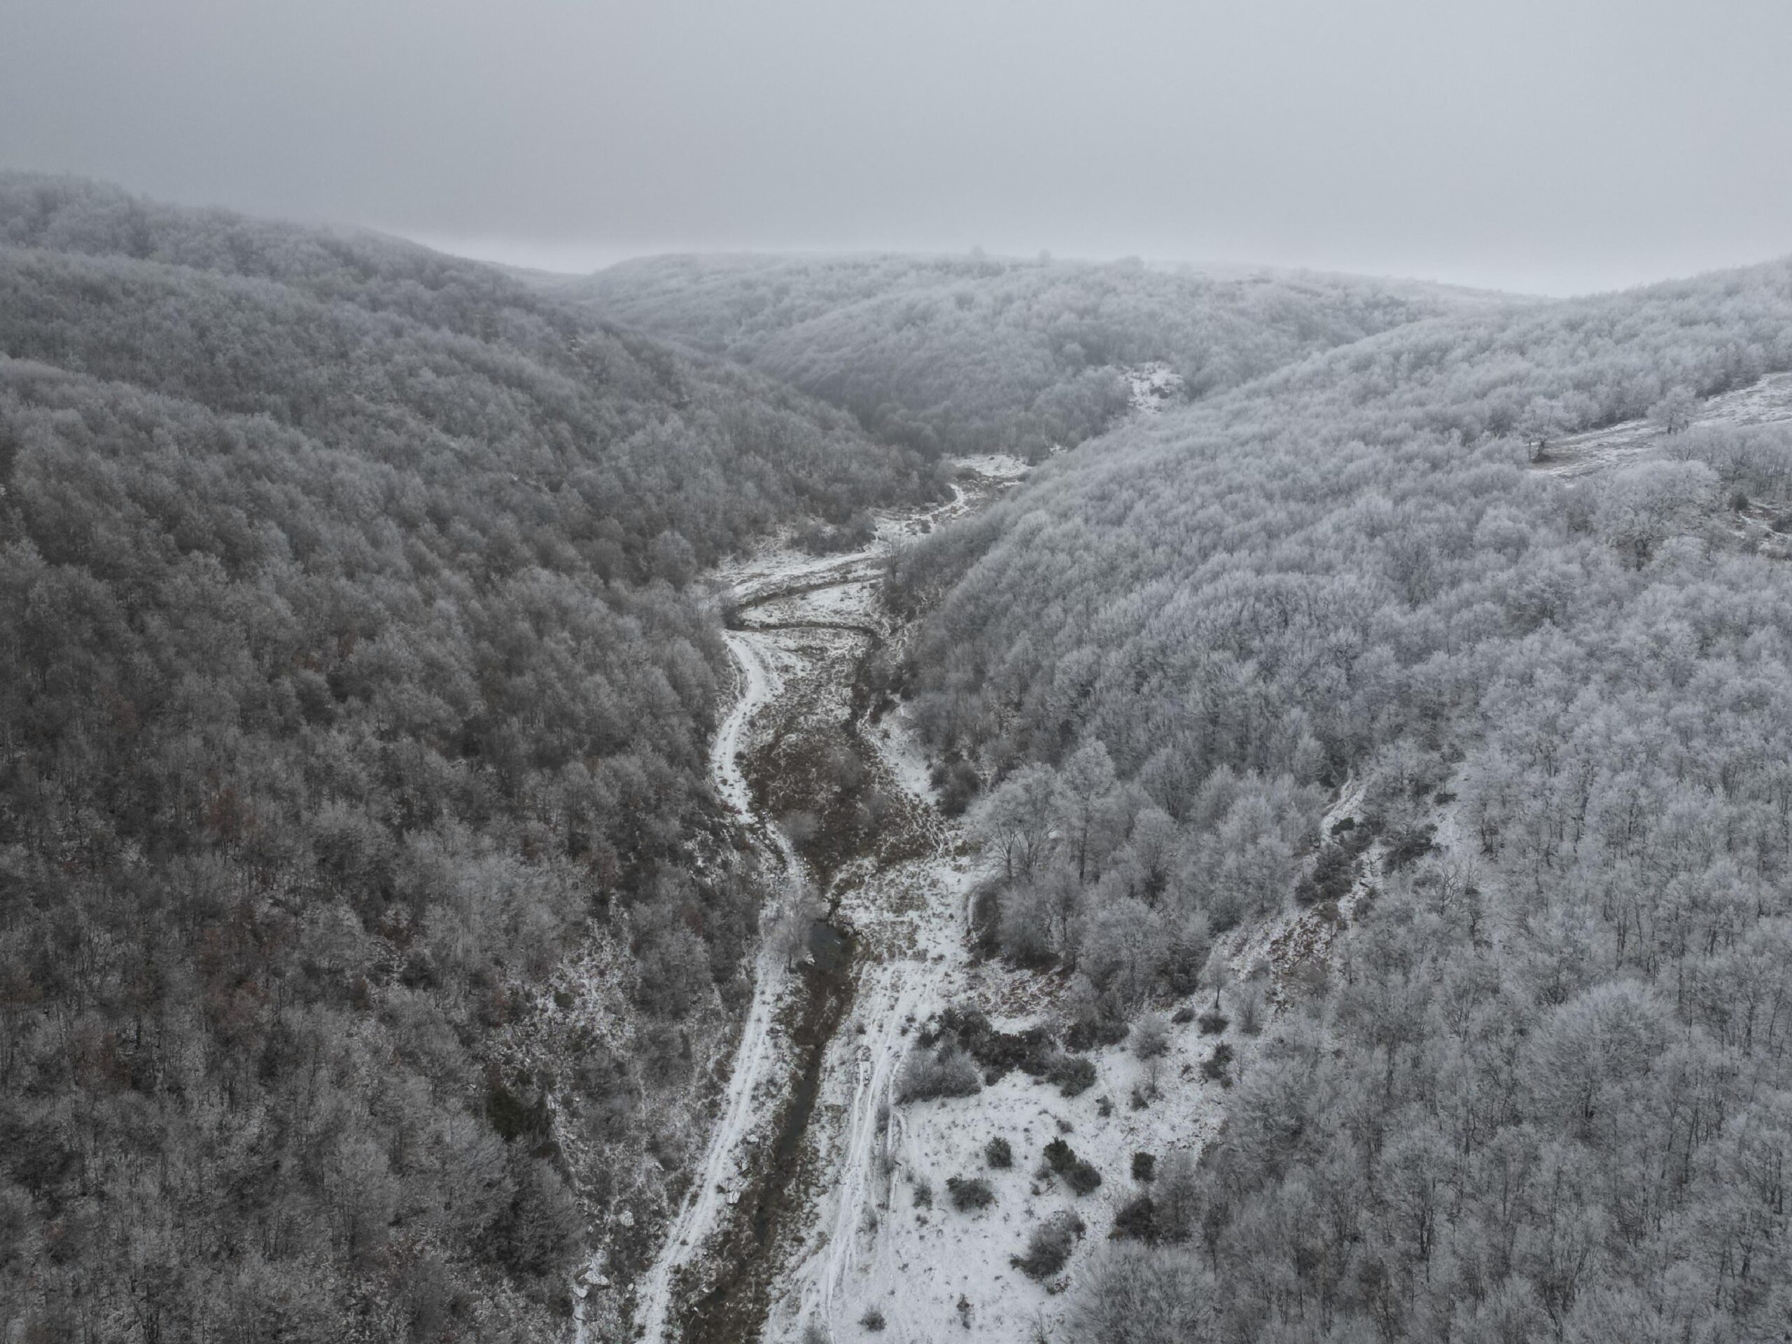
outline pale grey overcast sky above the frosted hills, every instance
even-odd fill
[[[0,167],[556,269],[1792,253],[1792,0],[0,0]]]

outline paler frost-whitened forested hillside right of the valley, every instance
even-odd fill
[[[1781,369],[1785,262],[1425,321],[896,564],[916,713],[993,780],[991,943],[1073,968],[1091,1021],[1186,993],[1215,932],[1348,919],[1366,844],[1387,873],[1081,1337],[1783,1331],[1792,570],[1733,520],[1792,521],[1792,432],[1529,470]],[[1366,835],[1321,835],[1348,780]]]

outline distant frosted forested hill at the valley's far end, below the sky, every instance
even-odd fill
[[[561,281],[615,321],[726,353],[928,455],[1041,457],[1167,362],[1186,396],[1419,317],[1496,303],[1319,274],[1210,276],[1138,262],[987,256],[663,256]]]

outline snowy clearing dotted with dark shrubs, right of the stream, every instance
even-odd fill
[[[909,787],[925,758],[900,715],[889,728],[880,751]],[[817,1201],[803,1263],[772,1310],[769,1340],[794,1340],[810,1322],[833,1340],[869,1339],[860,1321],[876,1310],[882,1337],[896,1344],[959,1337],[966,1326],[978,1340],[1027,1344],[1063,1306],[1011,1265],[1032,1229],[1059,1208],[1084,1219],[1088,1233],[1066,1271],[1073,1276],[1106,1240],[1115,1211],[1142,1192],[1131,1179],[1133,1154],[1193,1154],[1219,1125],[1224,1088],[1201,1077],[1201,1061],[1226,1039],[1242,1063],[1249,1043],[1236,1029],[1204,1038],[1192,1021],[1172,1027],[1170,1054],[1154,1066],[1124,1047],[1093,1052],[1097,1082],[1077,1097],[1012,1072],[975,1097],[896,1104],[901,1063],[930,1016],[977,1005],[1014,1029],[1052,1014],[1063,989],[1055,977],[971,957],[964,907],[978,874],[962,828],[943,821],[932,857],[874,873],[842,901],[866,966],[810,1124],[810,1143],[830,1154],[833,1179]],[[1014,1149],[1009,1170],[986,1163],[998,1134]],[[1038,1174],[1054,1138],[1102,1172],[1098,1190],[1079,1199]],[[995,1204],[955,1211],[946,1188],[953,1176],[986,1177]],[[930,1199],[918,1193],[923,1188]]]

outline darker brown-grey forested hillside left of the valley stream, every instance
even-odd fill
[[[564,1331],[745,989],[686,584],[935,493],[491,269],[0,177],[0,1317]]]

